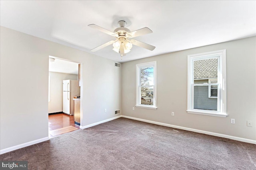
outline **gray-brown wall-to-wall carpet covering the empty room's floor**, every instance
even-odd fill
[[[256,170],[256,145],[119,118],[0,155],[30,170]]]

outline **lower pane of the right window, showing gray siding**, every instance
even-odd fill
[[[208,98],[208,85],[194,86],[194,109],[217,110],[218,99]],[[218,89],[211,89],[211,93],[218,95]],[[215,91],[216,90],[216,91]]]

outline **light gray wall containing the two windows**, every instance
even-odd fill
[[[122,115],[256,140],[255,47],[256,37],[249,37],[123,63]],[[228,116],[187,113],[187,56],[222,49],[226,49]],[[156,110],[135,107],[136,64],[150,61],[157,61]],[[231,124],[230,118],[236,124]],[[246,126],[247,120],[253,122],[253,127]]]

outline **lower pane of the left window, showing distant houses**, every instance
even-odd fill
[[[140,104],[153,105],[154,104],[154,88],[140,87]]]

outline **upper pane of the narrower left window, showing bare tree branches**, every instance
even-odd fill
[[[154,67],[140,68],[140,85],[152,86],[154,85]]]

